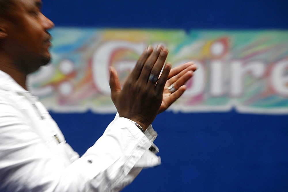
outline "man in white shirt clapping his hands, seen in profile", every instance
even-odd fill
[[[27,91],[26,76],[50,60],[54,24],[40,10],[40,0],[0,0],[0,191],[119,191],[160,164],[151,123],[183,94],[196,66],[170,71],[168,49],[158,45],[143,52],[123,89],[109,68],[118,114],[79,158]]]

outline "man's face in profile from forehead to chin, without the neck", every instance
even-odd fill
[[[41,0],[14,0],[6,16],[7,37],[1,48],[25,74],[50,60],[51,36],[47,30],[54,24],[41,13],[41,5]]]

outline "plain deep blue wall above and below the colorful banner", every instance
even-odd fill
[[[42,1],[56,26],[288,29],[285,0]],[[80,155],[114,117],[51,115]],[[143,170],[123,191],[288,191],[288,115],[164,112],[153,126],[162,165]]]

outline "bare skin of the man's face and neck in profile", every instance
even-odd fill
[[[0,70],[26,89],[26,76],[50,60],[47,30],[54,24],[41,13],[41,1],[12,2],[0,18]]]

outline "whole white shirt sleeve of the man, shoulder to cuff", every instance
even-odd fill
[[[149,150],[156,147],[151,126],[144,135],[132,122],[116,116],[81,158],[67,164],[29,121],[0,100],[0,191],[119,191],[142,168],[160,164]],[[71,150],[66,142],[59,147]]]

